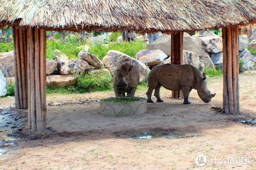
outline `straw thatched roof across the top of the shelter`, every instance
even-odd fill
[[[256,22],[256,0],[0,0],[0,23],[170,33]],[[0,24],[0,25],[1,25]]]

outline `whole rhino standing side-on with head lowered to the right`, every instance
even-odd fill
[[[203,73],[202,75],[196,67],[190,64],[162,64],[155,66],[148,77],[148,91],[146,92],[148,103],[153,103],[151,100],[153,90],[155,90],[156,102],[163,102],[160,98],[161,86],[168,90],[182,90],[184,104],[191,103],[188,97],[192,89],[197,90],[198,96],[205,103],[209,103],[216,95],[216,93],[211,94],[207,88],[206,74]]]

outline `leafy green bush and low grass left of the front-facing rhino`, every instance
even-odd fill
[[[91,91],[104,91],[112,88],[112,76],[106,72],[100,72],[98,75],[81,72],[78,81],[74,86],[65,87],[47,87],[47,93],[85,93]]]

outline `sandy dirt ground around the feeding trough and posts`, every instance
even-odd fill
[[[47,137],[30,136],[6,147],[0,169],[256,170],[256,126],[234,121],[256,118],[256,72],[240,74],[242,114],[212,108],[222,107],[222,87],[222,77],[208,78],[209,90],[217,95],[206,104],[193,90],[190,105],[161,88],[164,103],[149,103],[147,113],[129,117],[99,114],[98,101],[114,96],[112,91],[48,95],[47,126],[52,130]],[[140,88],[136,95],[146,97],[145,92]],[[13,97],[0,102],[0,108],[14,107]],[[153,138],[137,138],[148,135]],[[206,165],[196,164],[198,155],[206,156]],[[212,157],[224,157],[226,164],[218,160],[213,165]],[[252,157],[251,164],[228,165],[232,157]]]

